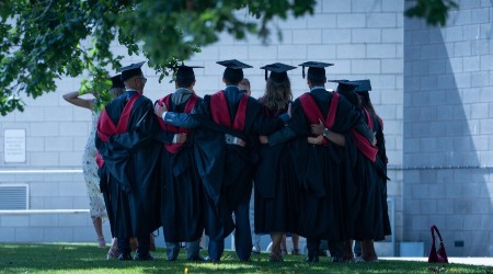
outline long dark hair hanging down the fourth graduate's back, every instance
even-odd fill
[[[291,83],[289,78],[282,82],[267,79],[265,93],[262,96],[262,104],[270,111],[282,110],[293,100]]]

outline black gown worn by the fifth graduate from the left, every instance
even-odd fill
[[[326,117],[333,93],[313,89],[308,95],[313,98],[321,114]],[[299,99],[294,102],[291,113],[289,129],[296,137],[290,157],[300,195],[298,233],[312,239],[348,239],[353,233],[355,217],[352,208],[357,202],[357,189],[348,175],[351,164],[346,161],[348,156],[355,153],[355,145],[346,142],[345,147],[340,147],[330,141],[326,146],[310,145],[307,137],[311,136],[311,123]],[[351,128],[365,127],[358,113],[341,96],[331,130],[348,136]]]

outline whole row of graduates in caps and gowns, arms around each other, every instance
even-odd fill
[[[369,80],[337,80],[328,91],[332,64],[303,62],[310,90],[293,102],[287,71],[296,67],[276,62],[261,68],[266,88],[256,100],[239,88],[251,66],[233,59],[217,62],[226,88],[202,99],[197,67],[182,64],[176,90],[152,103],[142,95],[142,64],[122,69],[126,92],[105,106],[95,137],[119,260],[152,260],[150,233],[162,226],[169,261],[186,242],[187,260],[219,262],[233,230],[238,259],[250,261],[252,190],[255,233],[273,241],[270,261],[283,261],[286,232],[307,238],[307,262],[319,261],[321,240],[334,262],[354,260],[352,240],[362,241],[359,261],[377,260],[374,240],[391,231],[383,128]],[[198,252],[204,230],[206,259]]]

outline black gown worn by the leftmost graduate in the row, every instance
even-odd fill
[[[135,91],[113,100],[105,110],[114,124]],[[139,96],[134,104],[127,132],[113,135],[107,142],[95,136],[104,159],[100,170],[113,237],[149,237],[161,226],[160,186],[157,173],[162,146],[154,137],[160,127],[152,102]]]

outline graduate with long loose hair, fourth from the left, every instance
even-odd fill
[[[265,69],[265,93],[259,100],[265,117],[277,117],[288,112],[293,100],[291,84],[287,71],[296,67],[271,64]],[[267,78],[267,71],[271,71]],[[263,138],[263,137],[261,137]],[[255,233],[270,233],[272,262],[283,261],[280,244],[285,232],[296,231],[296,213],[299,209],[293,167],[289,158],[289,142],[270,147],[262,145],[254,179]]]

